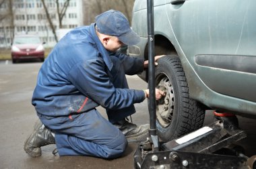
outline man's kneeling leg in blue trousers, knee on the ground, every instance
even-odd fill
[[[72,115],[72,119],[42,119],[42,123],[55,131],[60,156],[117,158],[127,146],[123,133],[104,119],[96,109]]]

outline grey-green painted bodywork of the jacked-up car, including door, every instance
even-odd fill
[[[174,46],[190,97],[212,109],[255,116],[256,1],[161,2],[154,1],[155,35],[164,36]],[[129,53],[146,58],[145,4],[146,0],[135,1],[132,28],[142,42],[129,47]],[[141,78],[145,80],[145,76],[144,72]]]

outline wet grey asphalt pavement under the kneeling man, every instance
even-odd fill
[[[124,156],[114,160],[86,156],[53,156],[55,145],[42,147],[42,156],[30,158],[24,150],[24,141],[32,132],[36,122],[36,112],[31,98],[36,85],[36,76],[42,63],[22,62],[11,64],[0,62],[0,169],[1,168],[133,168],[133,153],[137,144],[129,144]],[[138,76],[127,76],[131,89],[146,89],[148,84]],[[148,103],[135,104],[137,113],[132,116],[133,123],[149,123]],[[106,117],[102,107],[98,111]],[[247,156],[256,154],[255,119],[238,117],[241,129],[248,137],[238,144],[245,148]],[[214,117],[207,111],[205,123],[212,123]]]

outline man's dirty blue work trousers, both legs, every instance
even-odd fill
[[[116,57],[114,66],[108,71],[116,88],[127,89],[125,72]],[[59,156],[96,156],[117,158],[127,147],[125,135],[112,123],[135,113],[133,105],[119,110],[106,109],[108,120],[96,110],[75,113],[64,117],[47,117],[38,114],[42,123],[55,132]]]

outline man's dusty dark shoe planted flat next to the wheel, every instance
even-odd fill
[[[129,123],[126,119],[123,119],[121,121],[118,121],[117,123],[114,123],[117,128],[119,128],[125,137],[127,138],[128,142],[143,142],[146,141],[148,137],[148,129],[150,128],[149,124],[145,125],[135,125],[133,123]]]

